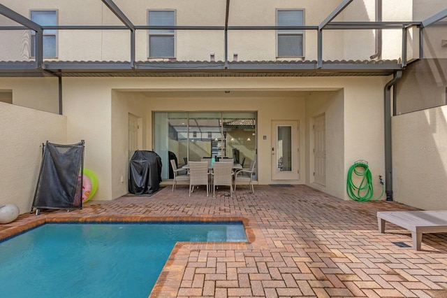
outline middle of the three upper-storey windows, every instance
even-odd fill
[[[149,26],[175,26],[174,10],[149,10]],[[174,29],[149,30],[149,58],[173,58]]]

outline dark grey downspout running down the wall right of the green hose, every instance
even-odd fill
[[[385,193],[386,200],[393,201],[393,147],[391,135],[391,87],[402,78],[402,71],[396,71],[384,88],[385,113]]]

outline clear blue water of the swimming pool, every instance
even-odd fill
[[[147,297],[177,241],[247,241],[242,224],[46,224],[0,243],[0,297]]]

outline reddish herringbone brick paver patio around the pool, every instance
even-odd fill
[[[377,211],[416,210],[387,201],[342,201],[305,185],[238,187],[206,197],[186,186],[152,197],[89,201],[0,225],[0,239],[64,220],[242,220],[249,243],[177,243],[151,297],[447,297],[447,234],[377,227]],[[399,247],[404,243],[409,247]]]

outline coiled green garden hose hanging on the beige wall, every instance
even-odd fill
[[[355,185],[353,183],[353,174],[356,176],[362,177],[360,181],[360,185]],[[383,196],[383,192],[385,191],[385,186],[383,185],[383,180],[381,176],[379,176],[382,187],[382,193],[380,197],[375,200],[380,199]],[[358,179],[357,179],[358,180]],[[346,192],[351,199],[355,201],[372,201],[372,197],[374,196],[374,189],[372,186],[372,174],[369,171],[368,163],[364,160],[358,160],[355,162],[348,171],[348,180],[346,183]]]

